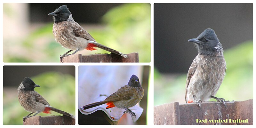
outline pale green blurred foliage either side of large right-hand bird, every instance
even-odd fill
[[[253,98],[253,42],[248,41],[224,49],[227,62],[226,76],[216,97],[225,100],[243,101]],[[154,105],[170,102],[185,103],[187,74],[166,75],[154,68]],[[210,101],[216,101],[211,99]]]

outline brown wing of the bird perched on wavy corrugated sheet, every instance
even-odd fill
[[[131,86],[124,85],[119,88],[115,93],[111,94],[104,101],[117,101],[117,100],[129,100],[134,95],[134,90]]]

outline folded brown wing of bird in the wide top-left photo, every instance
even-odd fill
[[[68,28],[72,31],[72,33],[75,36],[85,38],[87,40],[95,41],[95,39],[87,31],[85,31],[82,26],[80,26],[75,21],[70,21],[70,22],[71,24],[68,24]]]

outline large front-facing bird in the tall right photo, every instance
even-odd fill
[[[226,61],[223,56],[222,45],[211,28],[206,28],[199,36],[189,39],[196,45],[198,55],[188,69],[186,81],[186,103],[197,103],[201,109],[201,102],[210,98],[223,103],[224,98],[215,97],[226,73]]]

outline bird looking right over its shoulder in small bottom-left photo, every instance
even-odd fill
[[[50,106],[50,104],[39,93],[37,93],[34,90],[35,87],[40,87],[40,86],[35,84],[34,81],[29,77],[25,77],[17,89],[18,100],[20,102],[20,105],[26,111],[31,112],[27,116],[23,117],[24,122],[27,118],[32,117],[30,115],[33,113],[36,113],[33,115],[33,116],[36,116],[38,113],[41,113],[41,112],[51,113],[51,110],[75,119],[74,115]]]

